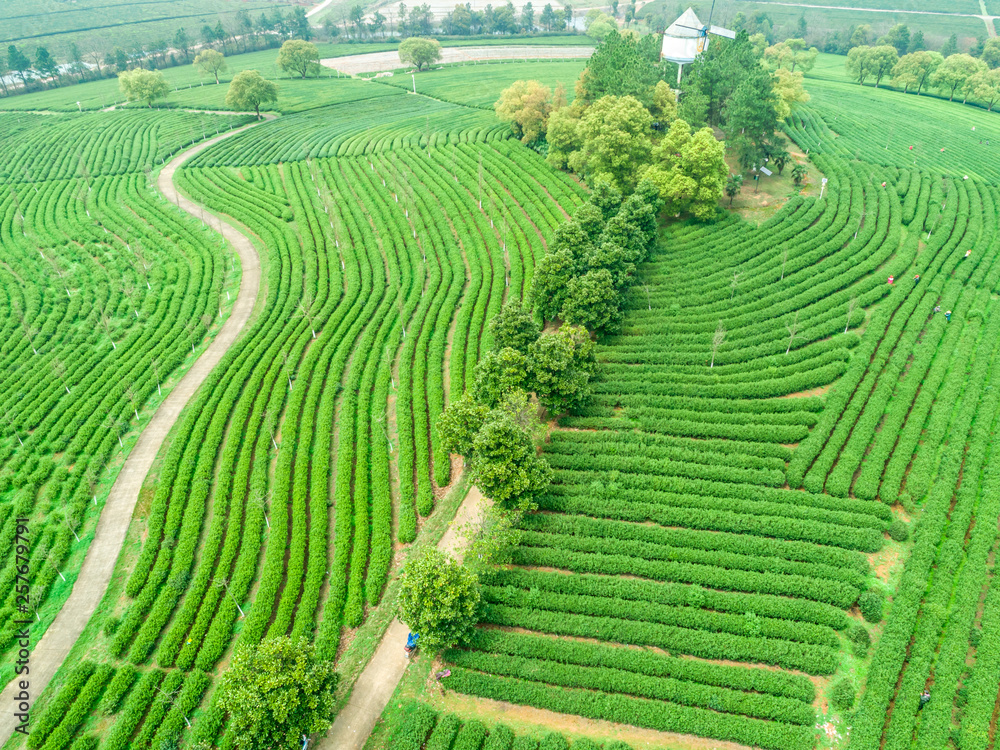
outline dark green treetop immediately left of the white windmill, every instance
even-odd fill
[[[632,96],[648,106],[662,77],[660,41],[655,34],[637,38],[632,32],[609,30],[587,61],[581,98],[590,103],[602,96]]]

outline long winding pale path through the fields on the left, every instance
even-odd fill
[[[179,205],[187,213],[200,219],[200,206],[183,196],[179,196],[174,188],[174,172],[191,156],[241,130],[253,127],[255,124],[246,125],[243,128],[204,141],[171,159],[160,172],[157,181],[160,192],[171,203]],[[180,416],[181,410],[194,396],[198,387],[236,341],[253,312],[254,304],[257,301],[257,292],[260,288],[260,258],[257,251],[249,239],[232,227],[222,224],[218,219],[210,218],[209,221],[214,222],[212,223],[213,228],[220,230],[232,243],[243,266],[240,290],[236,296],[236,302],[233,304],[232,314],[223,324],[215,339],[208,345],[208,348],[202,352],[201,356],[191,365],[191,369],[184,374],[184,377],[160,404],[118,474],[118,478],[111,488],[111,493],[108,495],[107,504],[101,511],[94,540],[87,549],[87,555],[80,568],[80,575],[73,584],[73,590],[62,609],[59,610],[59,614],[56,615],[56,619],[31,652],[29,679],[32,698],[37,699],[45,690],[69,654],[70,649],[73,648],[77,638],[80,637],[84,627],[90,621],[97,605],[104,598],[104,592],[111,582],[111,574],[118,561],[118,554],[125,542],[125,534],[132,521],[132,512],[139,499],[139,490],[142,488],[142,483],[145,481],[167,433],[170,432]],[[16,680],[12,681],[0,694],[0,701],[3,702],[3,705],[11,707],[15,705],[16,682]],[[0,712],[0,745],[13,734],[16,723],[13,710]]]

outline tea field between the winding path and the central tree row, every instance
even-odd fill
[[[287,116],[178,171],[258,243],[263,304],[178,423],[124,596],[32,747],[232,747],[212,686],[234,643],[334,658],[455,478],[436,417],[583,192],[488,113],[385,99],[404,109]]]

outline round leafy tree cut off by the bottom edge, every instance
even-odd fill
[[[237,648],[220,684],[219,706],[240,750],[299,748],[333,722],[338,675],[305,638]]]

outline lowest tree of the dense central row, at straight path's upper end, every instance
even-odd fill
[[[473,483],[486,497],[520,511],[530,510],[552,480],[552,469],[535,451],[528,433],[499,410],[476,434],[469,468]]]

